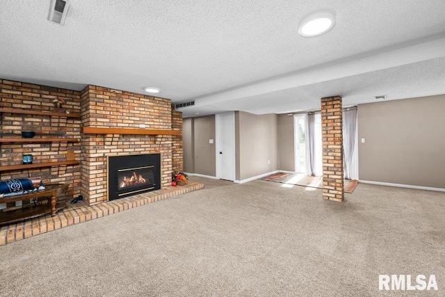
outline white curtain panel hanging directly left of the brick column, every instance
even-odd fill
[[[307,114],[307,143],[309,147],[309,175],[323,175],[321,146],[321,115]]]

